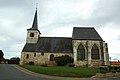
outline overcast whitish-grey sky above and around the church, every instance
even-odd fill
[[[36,3],[42,36],[71,37],[73,27],[93,26],[120,59],[120,0],[0,0],[0,49],[20,57]]]

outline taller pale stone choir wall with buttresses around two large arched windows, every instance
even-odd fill
[[[106,56],[107,52],[105,51],[105,43],[104,41],[96,41],[96,40],[73,40],[73,55],[74,55],[74,63],[76,66],[99,66],[102,64],[107,64]],[[85,48],[85,60],[77,61],[77,48],[82,44]],[[91,49],[93,45],[96,45],[99,49],[99,59],[91,59]],[[102,55],[103,54],[103,55]],[[102,61],[104,63],[102,63]]]

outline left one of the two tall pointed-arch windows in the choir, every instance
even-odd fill
[[[77,60],[85,60],[85,48],[82,44],[77,49]]]

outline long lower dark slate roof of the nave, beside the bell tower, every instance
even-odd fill
[[[22,52],[72,53],[72,38],[39,37],[36,44],[26,43]]]

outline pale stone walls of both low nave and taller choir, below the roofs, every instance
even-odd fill
[[[100,66],[109,65],[109,54],[108,47],[104,41],[95,40],[73,40],[73,53],[43,53],[43,52],[22,52],[20,64],[28,64],[29,62],[34,62],[36,65],[41,64],[53,64],[54,61],[50,61],[50,55],[53,54],[54,57],[69,55],[74,58],[74,64],[76,66]],[[77,48],[82,44],[85,48],[85,60],[77,60]],[[93,45],[97,45],[99,49],[99,59],[91,58],[91,49]],[[36,54],[36,55],[35,55]],[[27,58],[29,55],[29,58]]]

